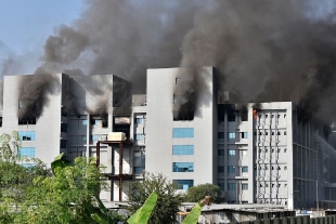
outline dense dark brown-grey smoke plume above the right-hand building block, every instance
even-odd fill
[[[309,119],[331,107],[323,102],[336,90],[335,16],[316,14],[320,3],[211,1],[184,37],[181,66],[214,65],[220,91],[234,90],[243,102],[294,101]],[[184,102],[198,88],[185,87],[177,93]]]

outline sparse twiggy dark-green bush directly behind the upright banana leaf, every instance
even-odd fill
[[[177,193],[177,187],[163,174],[144,173],[142,181],[130,183],[128,210],[134,213],[151,193],[155,192],[158,198],[148,224],[175,223],[183,199],[182,195]]]

